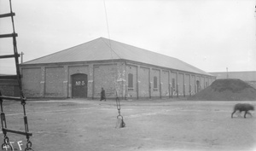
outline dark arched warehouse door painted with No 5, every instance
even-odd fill
[[[71,76],[72,78],[72,97],[85,98],[87,97],[88,80],[87,74],[77,73]]]

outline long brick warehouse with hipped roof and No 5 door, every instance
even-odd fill
[[[189,96],[215,79],[176,58],[107,38],[20,65],[26,97],[162,98]]]

